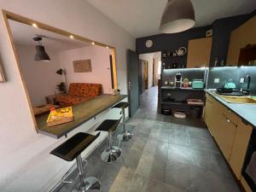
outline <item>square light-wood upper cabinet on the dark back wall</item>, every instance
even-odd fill
[[[187,67],[208,67],[211,57],[212,38],[189,40]]]

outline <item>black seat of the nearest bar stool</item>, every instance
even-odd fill
[[[72,161],[93,143],[100,134],[99,132],[96,136],[93,136],[85,132],[79,132],[52,150],[50,154],[54,154],[63,160]]]

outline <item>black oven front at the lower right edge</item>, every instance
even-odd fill
[[[256,129],[253,129],[241,172],[253,192],[256,192]]]

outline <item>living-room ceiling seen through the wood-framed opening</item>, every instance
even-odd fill
[[[35,46],[38,43],[35,42],[32,38],[38,34],[45,36],[45,38],[43,38],[42,44],[46,49],[50,49],[52,51],[63,51],[90,46],[89,43],[68,38],[55,32],[49,32],[40,28],[35,28],[33,26],[29,26],[14,20],[9,20],[9,26],[13,34],[15,44]]]

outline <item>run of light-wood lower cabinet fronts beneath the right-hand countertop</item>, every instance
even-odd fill
[[[237,179],[241,180],[241,169],[253,127],[246,125],[236,113],[208,94],[205,121]]]

